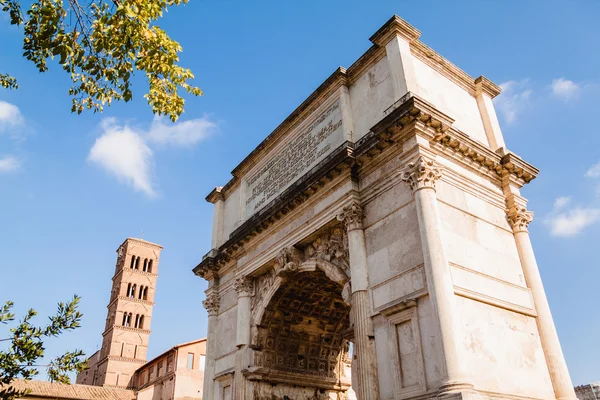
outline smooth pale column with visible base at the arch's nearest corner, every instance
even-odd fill
[[[459,355],[454,310],[454,286],[444,251],[442,224],[437,204],[435,184],[441,178],[437,165],[420,156],[402,174],[402,180],[413,190],[423,247],[423,261],[427,277],[427,292],[434,314],[439,321],[441,347],[446,366],[446,380],[440,393],[470,389]]]

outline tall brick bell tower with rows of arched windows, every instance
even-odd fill
[[[127,238],[117,249],[102,348],[95,358],[95,386],[127,387],[146,362],[162,246]],[[90,371],[92,372],[92,371]]]

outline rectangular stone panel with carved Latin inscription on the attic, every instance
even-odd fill
[[[268,204],[343,141],[338,99],[246,179],[246,216]]]

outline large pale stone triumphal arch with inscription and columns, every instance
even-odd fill
[[[205,399],[570,399],[492,99],[393,17],[214,189]],[[276,95],[276,94],[275,94]]]

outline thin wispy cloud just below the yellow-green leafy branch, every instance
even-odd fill
[[[155,117],[148,131],[148,141],[173,146],[193,146],[198,144],[211,133],[217,125],[208,117],[192,119],[178,123],[168,121],[162,117]]]

